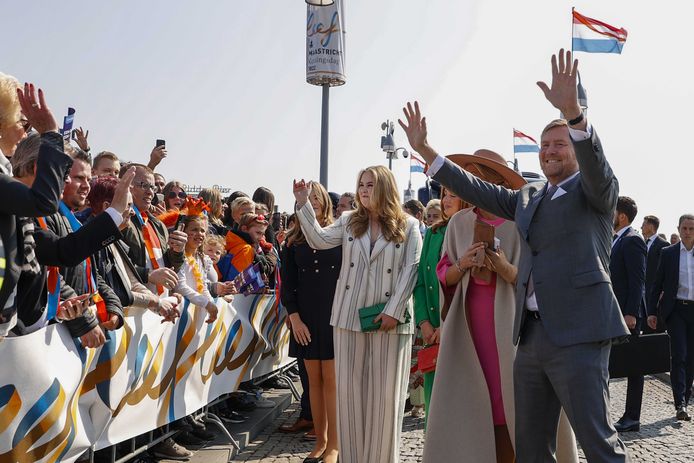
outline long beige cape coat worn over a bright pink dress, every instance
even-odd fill
[[[464,209],[451,218],[442,250],[442,254],[448,254],[451,261],[462,257],[472,245],[476,218],[473,209]],[[496,237],[508,260],[517,266],[520,259],[520,237],[516,225],[509,221],[501,224],[496,228]],[[489,390],[466,317],[465,294],[469,281],[470,272],[466,272],[456,288],[446,320],[442,324],[424,445],[425,463],[496,461]],[[443,297],[441,300],[443,301]],[[494,323],[504,412],[511,441],[514,440],[515,431],[513,360],[516,348],[512,342],[514,308],[514,286],[498,278]],[[559,462],[578,461],[573,432],[563,413],[558,454]]]

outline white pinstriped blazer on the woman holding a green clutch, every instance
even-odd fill
[[[386,241],[381,235],[372,252],[370,232],[357,238],[349,227],[351,212],[343,213],[328,227],[321,228],[310,202],[297,212],[309,246],[330,249],[342,245],[342,268],[335,288],[330,324],[337,328],[361,331],[359,309],[385,302],[383,313],[404,322],[394,333],[412,334],[412,290],[422,248],[419,222],[407,218],[403,243]]]

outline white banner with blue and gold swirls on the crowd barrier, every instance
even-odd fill
[[[190,305],[175,324],[126,310],[123,328],[84,349],[62,325],[0,342],[0,463],[74,461],[200,409],[288,364],[286,311],[274,294]]]

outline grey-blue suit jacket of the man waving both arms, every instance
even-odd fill
[[[591,138],[573,145],[580,174],[562,185],[566,193],[553,200],[543,201],[546,183],[509,190],[449,160],[434,175],[465,201],[516,222],[521,258],[514,343],[525,322],[531,272],[542,324],[554,344],[570,346],[629,334],[609,274],[619,184],[594,130]]]

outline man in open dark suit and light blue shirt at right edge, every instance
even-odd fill
[[[680,217],[681,242],[662,250],[655,282],[648,296],[648,325],[660,316],[670,335],[670,384],[676,418],[690,421],[687,405],[694,381],[694,215]]]

